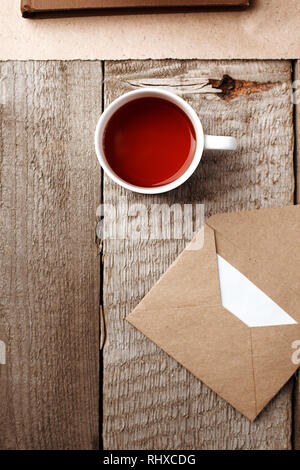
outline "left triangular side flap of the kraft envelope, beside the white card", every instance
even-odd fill
[[[139,306],[164,309],[220,303],[215,235],[205,226]]]

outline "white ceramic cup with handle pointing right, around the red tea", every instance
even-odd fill
[[[134,184],[130,184],[127,181],[120,178],[117,173],[110,167],[105,157],[104,148],[103,148],[103,135],[106,128],[106,125],[113,114],[124,104],[128,103],[129,101],[133,101],[137,98],[146,98],[146,97],[156,97],[156,98],[163,98],[167,101],[171,101],[172,103],[176,104],[184,113],[188,116],[190,121],[192,122],[195,134],[196,134],[196,150],[193,157],[193,160],[190,166],[186,169],[186,171],[175,181],[171,183],[165,184],[163,186],[156,186],[156,187],[142,187],[142,186],[135,186]],[[96,132],[95,132],[95,147],[96,153],[99,160],[100,165],[102,166],[105,173],[115,182],[118,183],[123,188],[130,189],[131,191],[135,191],[137,193],[142,194],[159,194],[165,193],[167,191],[171,191],[172,189],[177,188],[181,184],[183,184],[189,177],[194,173],[199,162],[201,160],[203,150],[235,150],[237,147],[237,141],[234,137],[222,137],[222,136],[213,136],[213,135],[204,135],[202,124],[200,122],[199,117],[193,110],[193,108],[182,98],[171,93],[169,91],[156,89],[156,88],[143,88],[141,90],[131,91],[126,93],[115,101],[113,101],[103,112],[100,116],[99,121],[97,123]]]

